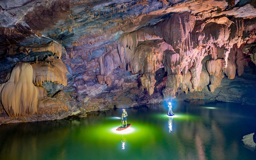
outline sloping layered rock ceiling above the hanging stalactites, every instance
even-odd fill
[[[246,0],[3,0],[0,7],[1,55],[10,46],[53,40],[86,53],[174,13],[189,12],[198,21],[256,15],[255,3]]]

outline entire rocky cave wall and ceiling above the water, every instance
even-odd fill
[[[3,114],[48,113],[57,119],[175,98],[255,105],[252,0],[37,0],[0,6]],[[33,110],[27,101],[13,110],[4,95],[15,64],[32,67],[29,84],[38,92]],[[25,94],[13,101],[27,99]]]

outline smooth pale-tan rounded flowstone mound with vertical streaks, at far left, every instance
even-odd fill
[[[33,68],[17,63],[1,92],[1,102],[10,117],[37,113],[38,88],[33,84]]]

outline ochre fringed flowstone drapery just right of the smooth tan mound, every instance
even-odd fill
[[[33,67],[33,83],[36,86],[42,85],[44,81],[51,81],[57,84],[67,85],[68,69],[61,59],[48,56],[45,61],[31,63]]]

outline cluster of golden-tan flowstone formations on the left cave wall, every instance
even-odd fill
[[[43,45],[42,49],[38,47],[37,51],[49,50],[55,53],[51,46],[54,46],[54,42]],[[22,50],[24,49],[25,47]],[[32,51],[35,51],[34,48]],[[58,56],[61,56],[61,49]],[[17,62],[7,77],[7,82],[0,86],[1,111],[4,109],[9,117],[15,118],[37,113],[68,111],[65,102],[47,97],[46,89],[41,87],[42,83],[48,81],[67,85],[66,73],[68,70],[64,63],[53,56],[47,56],[43,61],[36,59],[36,62]]]

